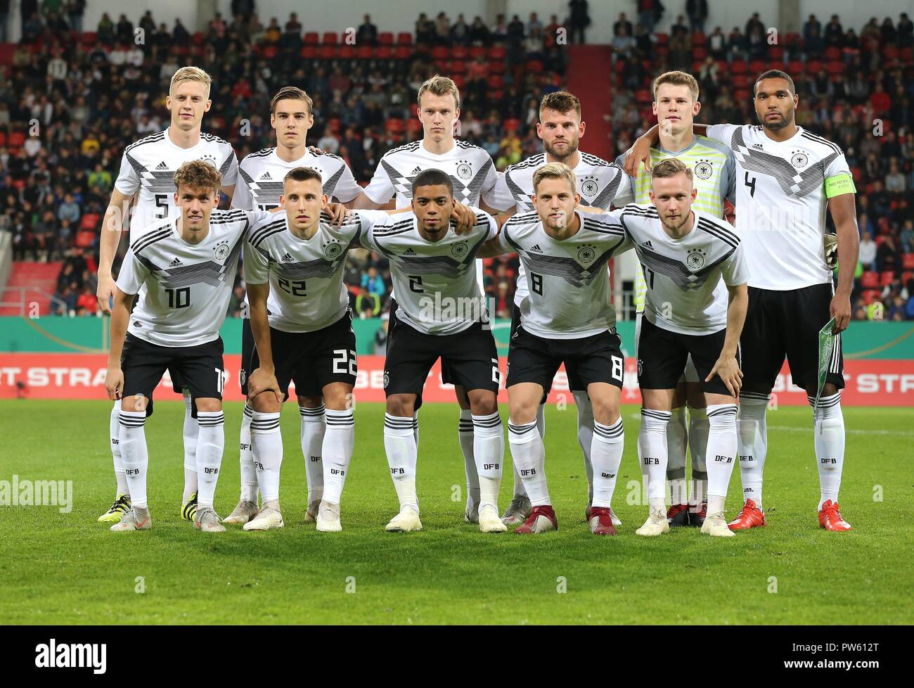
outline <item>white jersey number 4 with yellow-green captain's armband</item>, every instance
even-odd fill
[[[749,286],[831,283],[823,246],[827,201],[856,191],[841,149],[802,127],[787,141],[750,124],[714,124],[707,136],[736,158],[737,232],[746,245]]]

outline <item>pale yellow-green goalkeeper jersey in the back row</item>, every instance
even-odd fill
[[[616,159],[622,167],[624,155]],[[669,157],[682,160],[685,165],[692,168],[692,181],[698,189],[692,207],[701,212],[707,212],[716,218],[724,217],[724,200],[733,199],[736,184],[736,163],[730,149],[706,136],[696,136],[691,144],[681,151],[668,151],[660,146],[651,148],[651,167]],[[616,208],[625,203],[650,204],[651,176],[642,169],[637,178],[628,179],[628,193],[617,196],[613,205]],[[644,272],[639,270],[635,274],[634,303],[638,313],[644,311],[644,295],[647,293],[647,284],[644,282]]]

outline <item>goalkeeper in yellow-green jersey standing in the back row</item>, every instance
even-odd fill
[[[667,71],[654,80],[654,114],[659,123],[658,145],[651,148],[651,165],[675,157],[692,169],[692,181],[697,189],[694,207],[715,218],[724,217],[724,201],[733,199],[735,174],[733,154],[726,145],[707,136],[692,133],[693,120],[701,111],[698,102],[698,82],[684,71]],[[622,156],[616,162],[622,164]],[[651,202],[651,177],[630,178],[625,202],[647,205]],[[727,289],[717,284],[717,308],[726,311]],[[644,295],[647,285],[642,270],[635,274],[636,334],[641,329]],[[637,351],[636,351],[637,353]],[[666,512],[670,525],[700,526],[707,513],[707,448],[708,419],[705,411],[704,383],[698,376],[691,355],[685,362],[682,380],[676,385],[672,415],[666,426],[669,463],[666,477],[670,480],[670,508]],[[688,426],[685,425],[685,403],[688,402]],[[692,480],[686,493],[685,452],[692,455]]]

